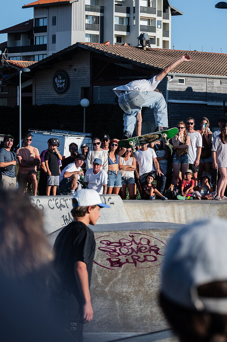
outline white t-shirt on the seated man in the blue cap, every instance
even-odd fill
[[[88,182],[88,188],[103,194],[103,185],[107,184],[108,174],[100,169],[98,173],[93,173],[93,168],[85,173],[84,181]]]

